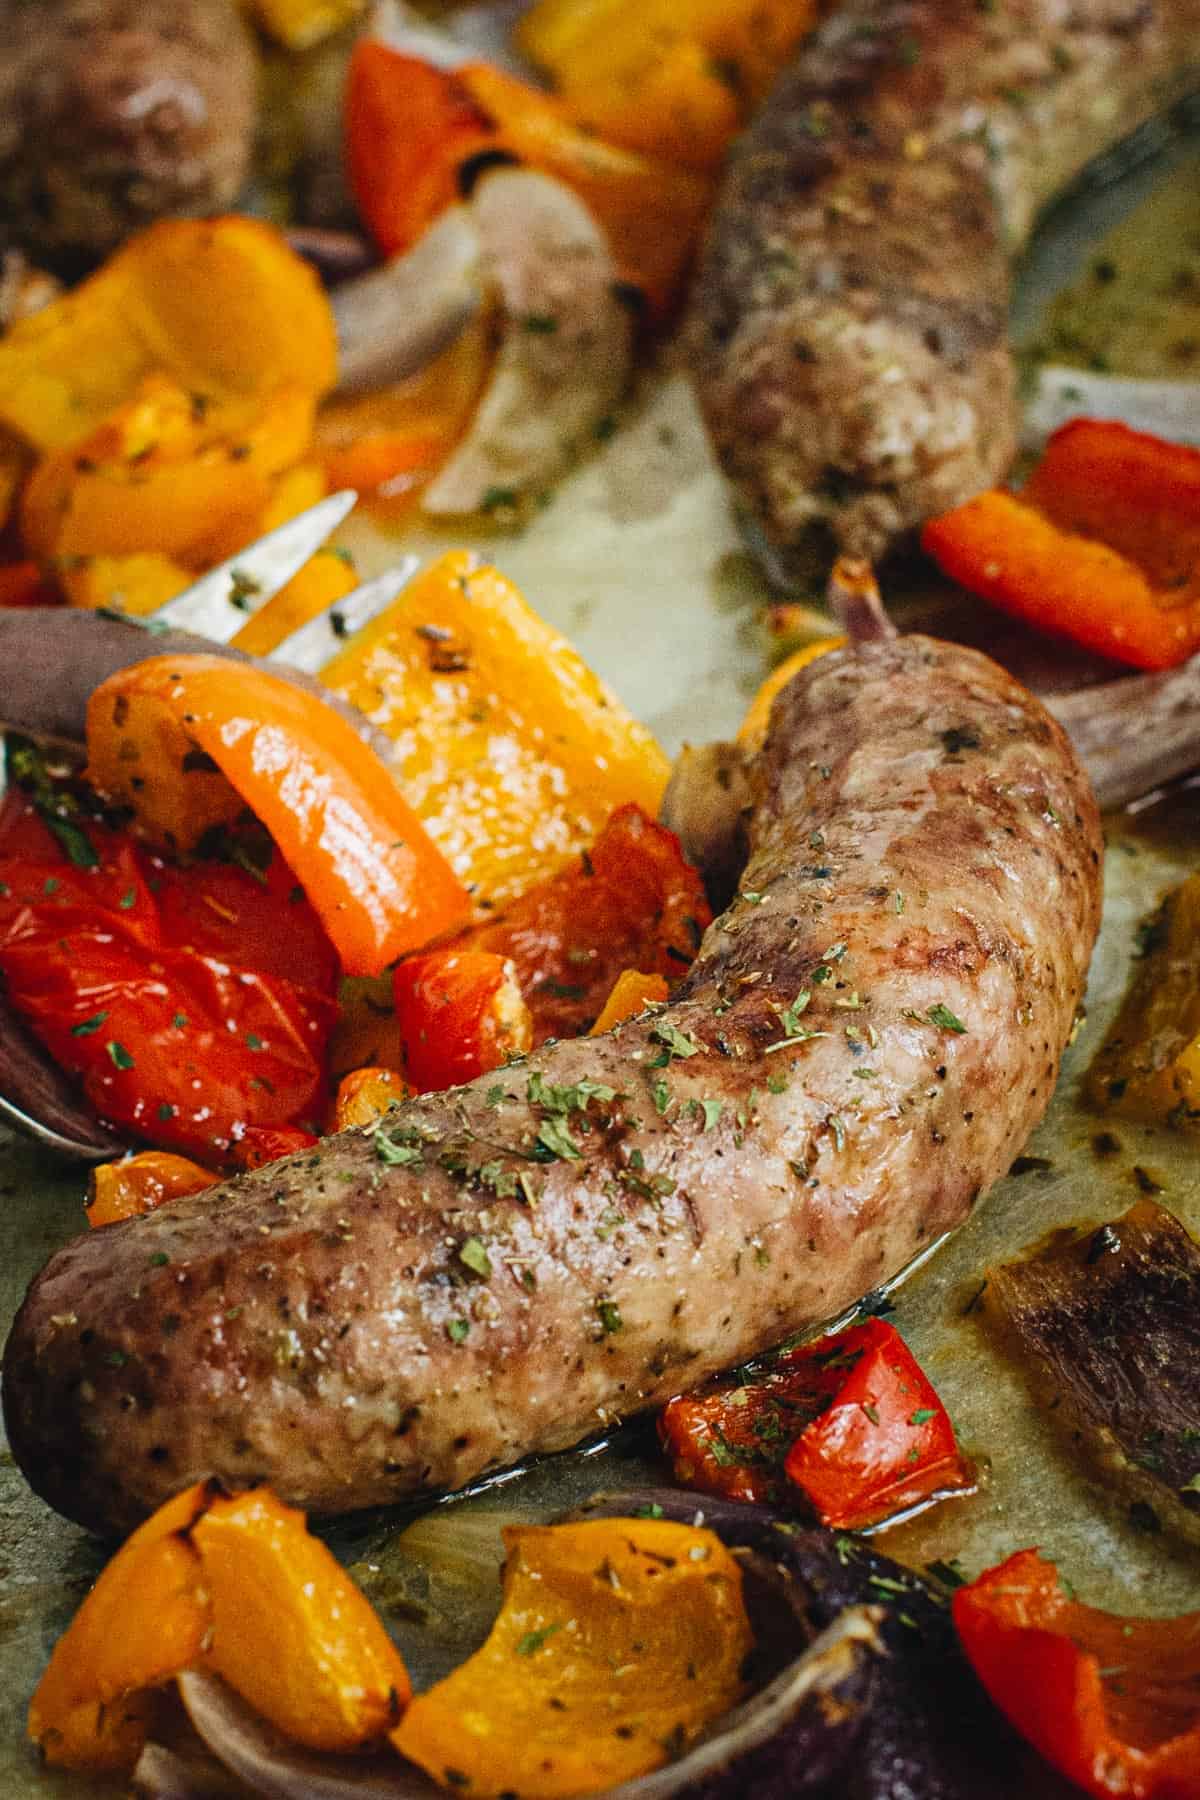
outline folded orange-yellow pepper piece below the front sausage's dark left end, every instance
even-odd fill
[[[103,1570],[29,1705],[47,1762],[128,1769],[155,1688],[212,1669],[309,1750],[380,1741],[412,1692],[371,1602],[270,1489],[200,1481],[158,1508]]]

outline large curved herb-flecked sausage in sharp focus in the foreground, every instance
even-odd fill
[[[1097,929],[1090,788],[925,637],[775,702],[750,859],[673,1004],[77,1238],[4,1366],[13,1451],[124,1530],[184,1483],[338,1512],[561,1449],[831,1318],[1042,1116]]]

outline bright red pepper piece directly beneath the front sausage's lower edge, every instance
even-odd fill
[[[792,1481],[846,1530],[973,1485],[946,1409],[883,1319],[788,1350],[757,1381],[671,1400],[660,1431],[678,1480],[774,1503]]]

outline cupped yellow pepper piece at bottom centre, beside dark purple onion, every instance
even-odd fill
[[[667,1519],[509,1526],[491,1636],[412,1701],[392,1742],[491,1800],[567,1800],[678,1755],[741,1696],[741,1570]]]

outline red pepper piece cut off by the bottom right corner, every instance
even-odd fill
[[[959,1588],[954,1622],[997,1706],[1085,1793],[1196,1800],[1200,1613],[1101,1613],[1018,1550]]]

